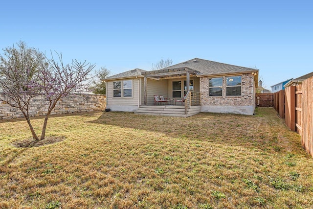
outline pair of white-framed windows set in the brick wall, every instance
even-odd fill
[[[241,95],[241,76],[225,77],[226,96]],[[223,77],[209,79],[209,95],[223,96]]]

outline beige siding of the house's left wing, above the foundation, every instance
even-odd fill
[[[122,80],[122,79],[121,79]],[[116,80],[116,81],[121,81]],[[113,97],[113,81],[107,81],[107,105],[139,105],[139,79],[125,79],[133,81],[132,97]]]

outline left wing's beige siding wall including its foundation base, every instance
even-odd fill
[[[139,106],[140,79],[120,79],[114,81],[132,80],[132,97],[113,97],[113,81],[107,81],[107,108],[112,111],[133,112]]]

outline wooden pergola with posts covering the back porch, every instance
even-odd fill
[[[199,71],[193,70],[188,67],[184,68],[173,68],[163,70],[152,70],[141,72],[144,76],[144,104],[147,104],[147,78],[155,78],[157,80],[161,78],[177,77],[186,75],[187,90],[189,90],[190,75],[197,75]]]

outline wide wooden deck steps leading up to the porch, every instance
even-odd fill
[[[201,106],[191,106],[185,114],[185,106],[179,105],[142,105],[134,112],[137,115],[190,117],[200,113]]]

